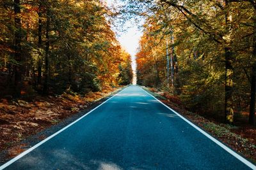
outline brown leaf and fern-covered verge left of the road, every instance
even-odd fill
[[[105,87],[101,92],[90,92],[85,96],[71,92],[60,96],[36,96],[31,101],[1,99],[0,152],[2,154],[0,157],[2,161],[0,164],[29,147],[22,141],[49,129],[52,125],[58,126],[74,115],[79,116],[80,111],[90,109],[94,103],[111,96],[120,89]],[[65,124],[69,123],[65,122]],[[38,140],[42,140],[49,135],[43,133],[37,137],[40,138]]]

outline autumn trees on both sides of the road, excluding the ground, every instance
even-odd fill
[[[145,19],[136,55],[139,85],[168,90],[189,110],[248,114],[255,124],[256,1],[0,2],[0,96],[86,94],[132,81],[131,56],[111,18]],[[122,12],[122,13],[121,13]]]

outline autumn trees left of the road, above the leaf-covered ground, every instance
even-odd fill
[[[131,56],[100,0],[0,2],[0,94],[97,91],[129,84]]]

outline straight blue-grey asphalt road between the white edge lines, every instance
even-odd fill
[[[250,169],[137,86],[9,164],[6,169]]]

